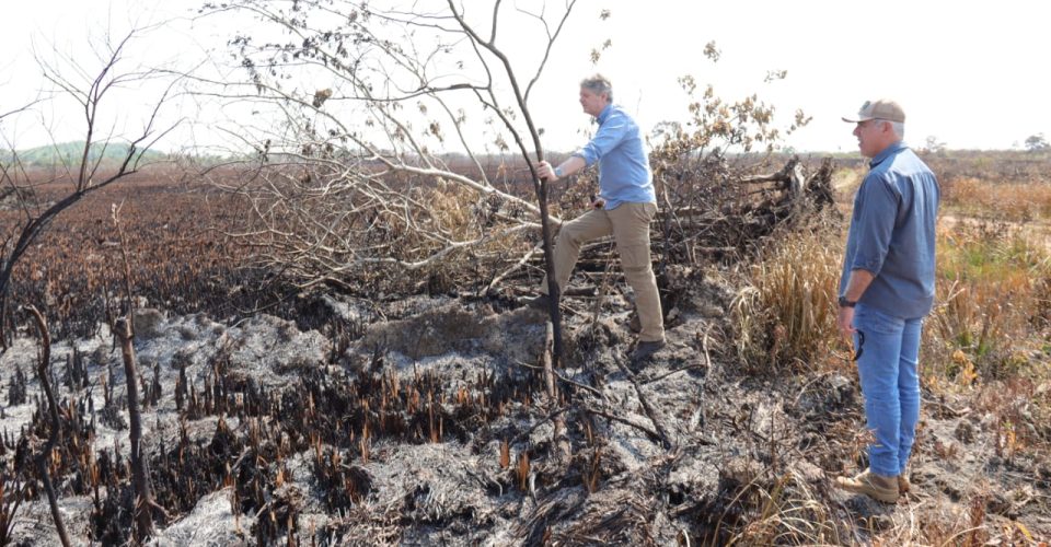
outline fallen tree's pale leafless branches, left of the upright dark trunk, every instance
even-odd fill
[[[545,207],[532,172],[543,149],[530,93],[574,3],[548,14],[492,2],[481,23],[453,2],[431,2],[430,12],[313,0],[217,8],[289,36],[235,36],[247,79],[232,93],[215,82],[259,119],[280,118],[231,131],[254,148],[259,166],[252,184],[236,186],[258,220],[240,235],[303,287],[519,246],[521,234],[542,228]],[[528,69],[498,47],[508,11],[535,22],[543,37]],[[506,155],[511,149],[517,163]],[[515,177],[532,181],[535,202],[516,191]]]

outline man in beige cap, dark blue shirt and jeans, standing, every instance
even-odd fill
[[[853,337],[865,416],[875,437],[868,468],[836,485],[894,503],[909,489],[905,464],[920,419],[917,375],[923,317],[934,303],[934,173],[903,142],[905,114],[892,101],[869,101],[856,124],[870,171],[854,197],[840,278],[838,327]]]

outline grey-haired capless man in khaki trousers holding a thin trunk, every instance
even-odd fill
[[[657,213],[649,156],[638,125],[613,104],[609,80],[596,74],[580,82],[580,105],[599,123],[594,138],[557,167],[540,162],[538,168],[541,178],[554,182],[599,163],[599,196],[591,210],[563,224],[558,232],[554,251],[556,281],[564,290],[580,245],[612,234],[624,277],[635,291],[642,331],[633,358],[640,361],[665,345],[663,315],[649,256],[649,223]],[[541,292],[544,294],[530,301],[531,306],[547,307],[546,280]]]

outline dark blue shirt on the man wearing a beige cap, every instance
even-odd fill
[[[902,142],[887,147],[870,166],[854,197],[840,294],[852,270],[867,270],[875,279],[862,303],[896,317],[923,317],[934,303],[938,181]]]

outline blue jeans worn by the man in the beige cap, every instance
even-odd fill
[[[854,347],[861,348],[857,375],[865,395],[865,416],[876,443],[868,466],[886,477],[901,475],[912,453],[920,420],[920,334],[923,318],[903,319],[857,304]]]

